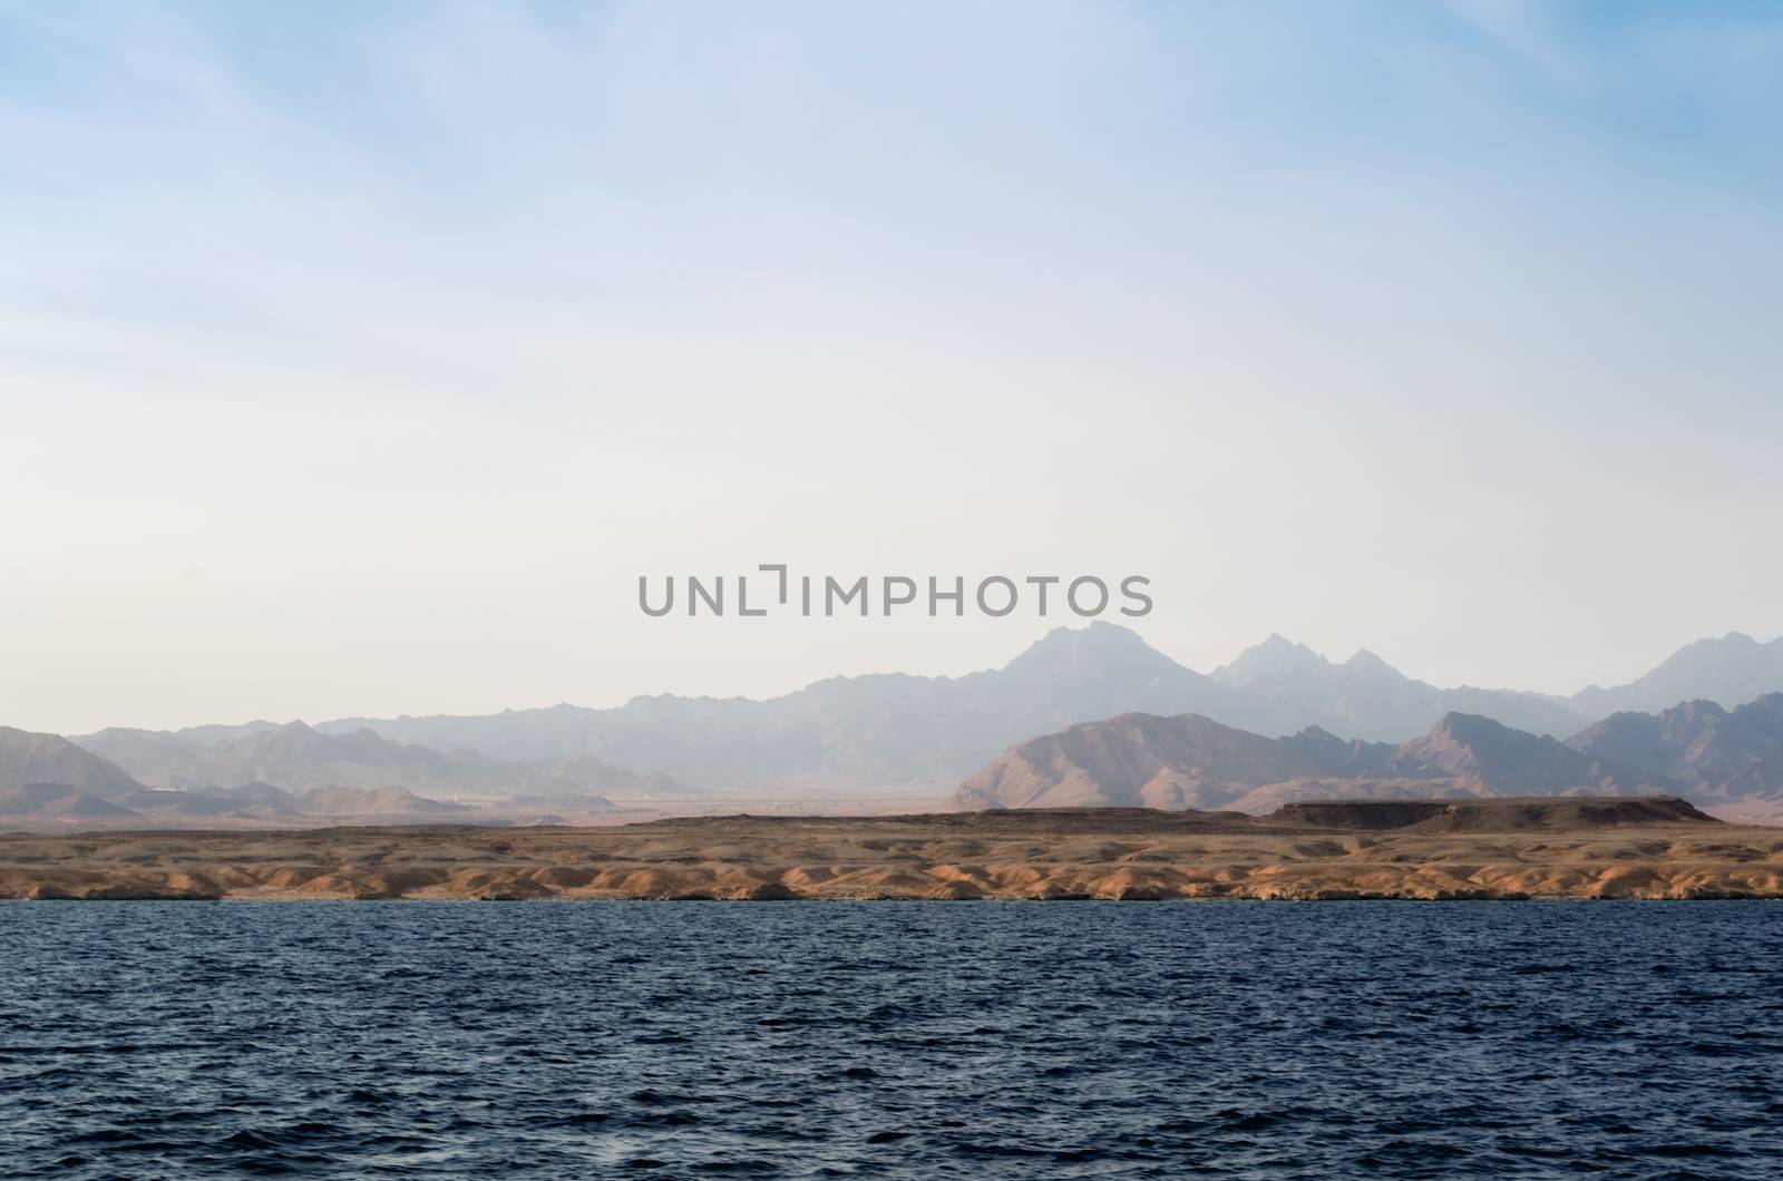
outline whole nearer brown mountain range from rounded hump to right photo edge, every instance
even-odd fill
[[[1127,714],[1020,742],[954,792],[977,808],[1227,808],[1314,799],[1685,796],[1730,819],[1783,817],[1783,692],[1724,710],[1617,714],[1567,742],[1448,714],[1398,746],[1316,726],[1286,739],[1207,717]]]

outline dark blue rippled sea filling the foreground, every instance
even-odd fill
[[[0,1176],[1779,1177],[1776,903],[0,904]]]

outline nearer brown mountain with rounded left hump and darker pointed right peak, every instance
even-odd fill
[[[1268,739],[1205,717],[1123,715],[1022,742],[954,794],[956,808],[1234,808],[1300,799],[1676,790],[1665,774],[1551,737],[1450,714],[1403,746],[1311,728]]]

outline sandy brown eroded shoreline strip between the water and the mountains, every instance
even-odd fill
[[[1783,897],[1783,828],[1674,797],[0,835],[12,899]]]

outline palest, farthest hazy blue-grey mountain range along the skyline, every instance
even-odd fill
[[[779,698],[649,696],[596,710],[556,705],[455,717],[349,717],[325,733],[371,730],[392,742],[506,760],[592,755],[697,785],[934,787],[947,790],[1004,747],[1120,714],[1200,714],[1261,735],[1319,726],[1343,739],[1409,742],[1448,714],[1565,737],[1623,708],[1708,699],[1726,706],[1783,690],[1783,640],[1703,640],[1619,689],[1555,698],[1439,689],[1373,653],[1343,664],[1271,635],[1196,673],[1107,623],[1056,628],[1000,669],[965,676],[834,676]],[[1656,706],[1655,694],[1676,694]]]

